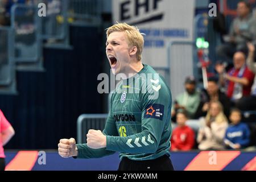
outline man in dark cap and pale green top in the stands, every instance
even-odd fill
[[[195,116],[197,108],[200,104],[200,93],[196,90],[196,80],[189,76],[185,79],[185,92],[177,96],[172,107],[172,119],[176,121],[176,111],[179,109],[187,110],[188,118]]]

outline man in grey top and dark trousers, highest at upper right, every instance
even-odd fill
[[[256,21],[250,14],[250,3],[245,1],[237,4],[237,18],[230,27],[229,36],[224,38],[225,44],[218,46],[216,53],[222,62],[232,63],[235,52],[245,50],[246,42],[256,38]]]

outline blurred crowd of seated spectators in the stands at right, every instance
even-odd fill
[[[229,35],[216,47],[216,76],[208,77],[207,88],[197,88],[190,76],[184,93],[173,98],[172,151],[256,150],[256,17],[251,12],[249,3],[237,4]]]

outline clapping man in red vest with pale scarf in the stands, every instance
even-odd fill
[[[236,52],[233,58],[234,67],[225,73],[224,65],[216,64],[220,84],[225,86],[226,95],[237,104],[242,97],[250,96],[255,74],[246,66],[246,56]]]

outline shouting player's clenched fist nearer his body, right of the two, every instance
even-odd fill
[[[89,130],[87,137],[87,146],[93,149],[106,147],[106,136],[100,130]]]

